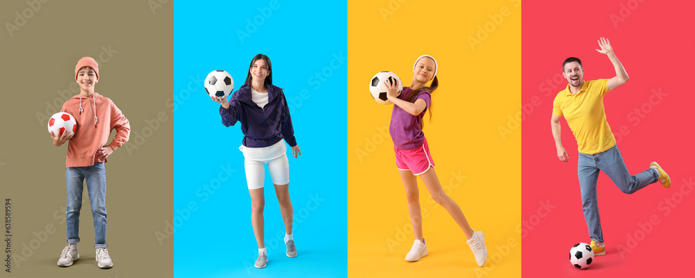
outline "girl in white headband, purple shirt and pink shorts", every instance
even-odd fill
[[[439,179],[434,172],[434,161],[430,156],[430,148],[423,133],[423,117],[425,111],[430,111],[432,118],[432,93],[439,85],[436,78],[437,63],[432,56],[423,55],[415,60],[413,65],[413,81],[410,88],[403,87],[400,95],[397,94],[397,83],[384,81],[387,88],[387,97],[393,101],[393,113],[391,113],[391,126],[389,133],[393,139],[395,162],[400,170],[400,178],[403,181],[405,195],[408,199],[408,213],[413,225],[415,243],[410,252],[405,256],[406,261],[418,261],[427,256],[427,245],[423,238],[422,213],[420,212],[420,193],[418,181],[420,176],[427,190],[437,204],[443,206],[452,218],[459,224],[468,238],[468,246],[471,247],[475,261],[482,266],[487,261],[487,248],[482,231],[473,231],[468,225],[464,213],[459,205],[454,202],[441,188]],[[425,87],[432,81],[429,87]]]

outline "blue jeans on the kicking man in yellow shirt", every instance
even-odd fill
[[[659,172],[655,169],[644,170],[631,176],[617,145],[598,154],[579,153],[577,165],[584,220],[587,221],[591,240],[596,241],[603,241],[601,219],[598,215],[598,200],[596,199],[596,182],[599,171],[605,172],[613,183],[626,194],[635,193],[659,179]]]

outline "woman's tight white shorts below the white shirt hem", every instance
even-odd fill
[[[286,154],[267,161],[246,158],[244,165],[246,168],[246,183],[249,189],[263,188],[263,179],[265,177],[265,167],[263,165],[265,164],[268,164],[268,172],[270,172],[270,179],[273,184],[284,185],[290,183],[290,165]]]

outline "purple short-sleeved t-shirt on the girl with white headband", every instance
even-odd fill
[[[414,90],[408,87],[403,87],[403,92],[398,97],[407,101],[411,93]],[[425,111],[430,107],[430,92],[422,91],[413,100],[415,102],[418,99],[425,100],[425,110],[420,113],[420,115],[414,116],[403,110],[403,108],[398,107],[398,105],[393,104],[393,113],[391,113],[391,125],[389,126],[389,133],[391,133],[391,139],[393,140],[393,145],[398,149],[415,149],[420,147],[425,143],[425,133],[423,133],[422,126],[420,126],[420,120],[425,116]]]

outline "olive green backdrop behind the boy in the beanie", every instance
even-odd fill
[[[174,3],[161,2],[0,2],[0,197],[12,199],[13,255],[28,255],[21,262],[15,256],[12,273],[3,266],[1,277],[173,277],[173,238],[155,236],[172,221],[174,184],[174,115],[167,107]],[[8,24],[19,30],[10,36]],[[129,142],[106,163],[110,270],[97,268],[86,186],[80,259],[69,268],[56,264],[67,245],[67,144],[51,144],[47,120],[67,99],[59,92],[79,94],[74,67],[83,56],[99,62],[95,91],[131,124]]]

